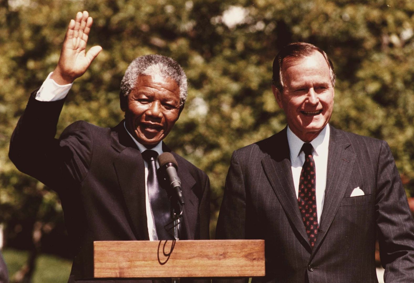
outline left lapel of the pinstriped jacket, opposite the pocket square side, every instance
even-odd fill
[[[270,152],[270,154],[262,159],[265,174],[286,216],[295,227],[295,234],[299,234],[299,237],[302,237],[304,240],[302,242],[307,243],[310,249],[294,188],[286,128],[274,135],[274,138],[270,139],[269,150],[267,152]]]

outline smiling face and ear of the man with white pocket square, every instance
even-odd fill
[[[303,142],[310,142],[329,122],[334,88],[328,63],[320,52],[306,57],[287,57],[282,64],[283,93],[272,87],[289,128]]]

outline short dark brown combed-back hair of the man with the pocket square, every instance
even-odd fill
[[[326,63],[329,66],[330,71],[330,79],[332,86],[335,86],[335,71],[332,61],[326,55],[325,51],[320,49],[319,47],[306,43],[306,42],[294,42],[284,46],[279,53],[276,55],[273,61],[273,77],[272,77],[272,84],[274,87],[279,90],[281,93],[283,91],[283,76],[282,76],[282,63],[283,59],[287,57],[306,57],[313,54],[313,52],[320,52],[326,60]]]

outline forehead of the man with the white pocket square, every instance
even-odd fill
[[[318,51],[308,56],[286,57],[282,64],[283,83],[286,85],[305,82],[330,82],[330,68],[325,57]]]

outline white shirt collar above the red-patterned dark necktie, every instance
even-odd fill
[[[327,154],[329,145],[329,134],[329,124],[326,124],[325,128],[323,128],[323,130],[318,134],[318,136],[310,142],[310,144],[312,144],[313,146],[313,152],[316,155],[320,156]],[[304,142],[291,131],[289,126],[287,127],[287,142],[289,144],[290,160],[291,163],[294,163],[298,158],[299,154],[301,153],[301,148]]]

